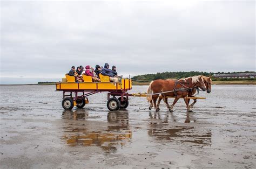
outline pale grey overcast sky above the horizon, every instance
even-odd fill
[[[255,2],[1,1],[2,84],[105,62],[124,76],[255,71]]]

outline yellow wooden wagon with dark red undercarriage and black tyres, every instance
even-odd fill
[[[129,93],[127,91],[132,89],[131,79],[121,79],[120,82],[114,83],[110,82],[109,76],[100,74],[99,78],[101,82],[93,82],[91,76],[83,75],[84,82],[76,82],[74,76],[66,74],[62,82],[56,83],[56,90],[63,91],[62,107],[64,109],[72,109],[74,106],[83,108],[89,102],[87,96],[103,91],[108,92],[107,108],[109,110],[128,107]]]

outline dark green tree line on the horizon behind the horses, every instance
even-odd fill
[[[231,72],[227,72],[230,74]],[[245,72],[232,72],[232,73],[253,73],[250,71]],[[156,74],[144,74],[144,75],[138,75],[133,76],[132,80],[138,80],[138,81],[151,81],[151,80],[157,80],[157,79],[181,79],[181,78],[187,78],[190,76],[196,76],[196,75],[204,75],[204,76],[212,76],[213,74],[225,74],[224,72],[197,72],[197,71],[191,71],[191,72],[163,72],[163,73],[156,73]],[[255,78],[247,78],[248,80],[253,80]],[[218,81],[220,79],[218,78],[212,78],[213,81]],[[224,79],[221,79],[224,80]],[[237,78],[230,78],[226,80],[238,80]],[[246,79],[239,79],[239,80],[246,80]]]

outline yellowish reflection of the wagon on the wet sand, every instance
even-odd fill
[[[86,128],[65,127],[65,135],[62,139],[69,146],[99,146],[105,152],[115,152],[117,146],[124,146],[132,137],[129,115],[127,112],[109,112],[107,121],[111,125],[107,123],[106,129],[100,131],[95,131],[97,128],[90,125]]]

